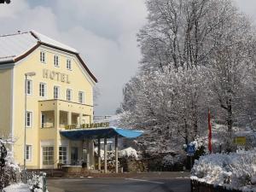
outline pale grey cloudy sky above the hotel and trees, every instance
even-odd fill
[[[255,0],[236,0],[256,20]],[[136,34],[144,0],[12,0],[0,5],[0,34],[34,29],[79,50],[99,83],[96,115],[113,114],[124,84],[137,72]]]

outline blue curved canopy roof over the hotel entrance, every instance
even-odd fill
[[[81,141],[83,139],[126,137],[136,138],[143,135],[143,131],[134,131],[117,127],[92,128],[72,131],[60,131],[61,136],[71,140]]]

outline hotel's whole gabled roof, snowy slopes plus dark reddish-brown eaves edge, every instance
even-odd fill
[[[0,35],[0,65],[20,61],[40,45],[76,55],[91,79],[97,82],[96,77],[90,72],[76,49],[36,31]]]

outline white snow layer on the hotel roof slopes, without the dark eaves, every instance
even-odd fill
[[[15,34],[0,35],[0,62],[15,61],[16,58],[26,54],[38,43],[49,44],[60,49],[78,53],[76,49],[61,44],[52,38],[36,32],[17,32]]]

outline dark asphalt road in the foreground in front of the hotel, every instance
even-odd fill
[[[189,178],[49,179],[49,192],[190,192]]]

